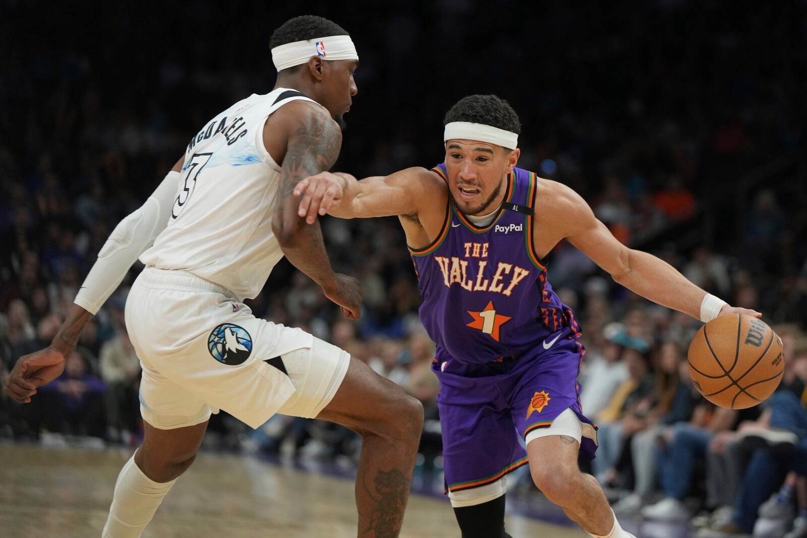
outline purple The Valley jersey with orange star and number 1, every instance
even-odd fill
[[[445,181],[445,163],[433,171]],[[487,363],[519,356],[562,328],[579,336],[571,309],[554,294],[533,248],[535,174],[513,169],[504,204],[485,227],[471,223],[449,196],[440,236],[412,250],[423,304],[420,321],[437,356]],[[442,359],[441,359],[442,360]]]

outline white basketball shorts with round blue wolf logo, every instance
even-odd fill
[[[193,426],[221,409],[253,428],[275,413],[316,417],[350,357],[298,328],[253,316],[221,286],[147,267],[126,302],[140,357],[140,413],[153,427]]]

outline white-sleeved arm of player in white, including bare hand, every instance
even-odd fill
[[[168,225],[183,160],[174,165],[143,206],[120,221],[112,231],[51,344],[16,362],[4,388],[11,398],[20,403],[30,402],[36,389],[61,375],[65,360],[76,348],[85,325],[117,289],[137,257]]]

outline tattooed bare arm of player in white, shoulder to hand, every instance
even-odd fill
[[[266,148],[276,148],[278,135],[286,133],[272,231],[291,264],[311,277],[325,296],[342,308],[345,317],[358,319],[362,302],[358,282],[333,272],[320,223],[307,224],[297,215],[298,200],[293,195],[303,177],[328,170],[337,161],[341,129],[322,106],[312,102],[290,103],[277,116],[270,116],[263,132]]]

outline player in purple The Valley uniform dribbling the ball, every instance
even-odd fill
[[[579,459],[594,456],[596,426],[579,401],[579,323],[546,280],[546,255],[566,239],[622,286],[704,322],[759,313],[625,247],[575,191],[516,168],[521,126],[504,100],[463,98],[444,123],[443,164],[362,181],[309,177],[295,188],[299,215],[398,215],[423,295],[420,320],[437,344],[445,481],[464,538],[508,536],[505,475],[528,462],[536,486],[589,534],[633,536],[579,470]]]

